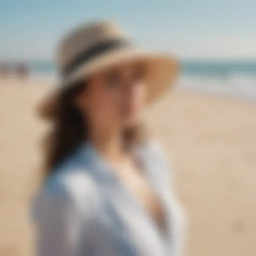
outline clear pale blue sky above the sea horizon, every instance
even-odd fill
[[[146,49],[256,58],[256,0],[0,0],[0,59],[51,59],[82,22],[118,22]]]

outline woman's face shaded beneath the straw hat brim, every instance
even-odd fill
[[[144,71],[141,64],[126,63],[90,77],[78,104],[92,126],[122,129],[139,118],[146,96]]]

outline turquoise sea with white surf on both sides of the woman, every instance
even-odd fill
[[[32,61],[30,68],[32,76],[56,78],[53,62]],[[177,86],[256,100],[256,60],[182,60]]]

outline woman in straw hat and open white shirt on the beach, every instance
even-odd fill
[[[53,130],[33,204],[38,255],[179,255],[168,165],[139,124],[175,78],[175,59],[95,22],[63,38],[58,65],[62,86],[39,108]]]

